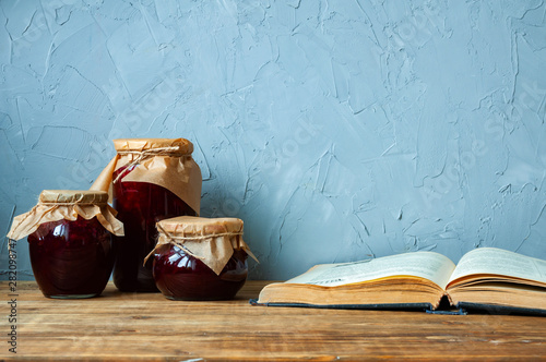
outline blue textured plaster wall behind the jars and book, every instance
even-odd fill
[[[1,1],[1,232],[41,190],[87,189],[111,138],[182,136],[202,214],[245,220],[253,278],[479,245],[546,258],[545,16],[508,0]]]

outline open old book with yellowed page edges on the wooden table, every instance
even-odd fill
[[[436,310],[451,305],[546,315],[546,261],[475,249],[455,266],[434,252],[323,264],[286,282],[265,286],[257,305]]]

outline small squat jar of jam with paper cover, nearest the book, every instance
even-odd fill
[[[171,300],[228,300],[245,285],[242,220],[182,216],[157,222],[153,253],[157,288]]]

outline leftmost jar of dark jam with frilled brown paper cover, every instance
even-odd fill
[[[111,234],[123,234],[107,202],[102,191],[45,190],[31,212],[14,218],[8,237],[28,236],[34,277],[45,297],[91,298],[105,289],[115,258]]]

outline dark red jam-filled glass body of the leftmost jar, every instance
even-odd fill
[[[96,218],[44,222],[28,236],[34,277],[49,298],[99,295],[110,278],[115,250]]]

